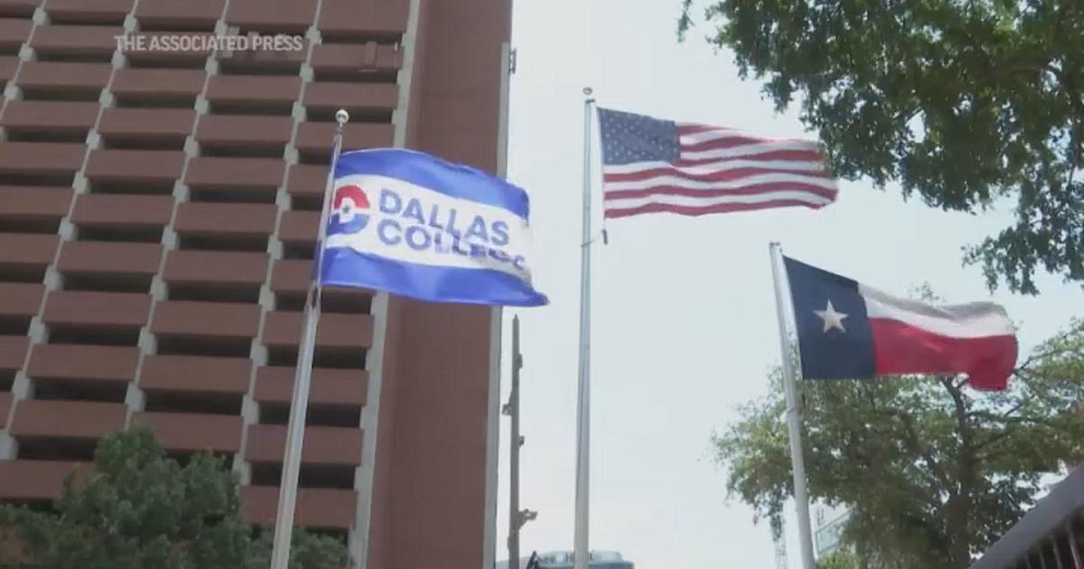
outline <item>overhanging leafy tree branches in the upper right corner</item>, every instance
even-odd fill
[[[1084,281],[1084,3],[711,0],[706,16],[777,109],[801,95],[839,176],[945,210],[1015,196],[1015,223],[966,254],[991,287],[1035,294],[1038,267]]]

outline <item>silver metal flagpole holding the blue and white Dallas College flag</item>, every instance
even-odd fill
[[[312,380],[312,354],[317,345],[317,323],[320,321],[321,264],[323,263],[324,238],[327,217],[331,210],[332,184],[335,182],[335,165],[343,150],[343,126],[350,120],[346,111],[335,113],[335,141],[332,143],[332,161],[327,169],[327,185],[324,187],[324,205],[320,212],[317,230],[317,250],[313,255],[312,281],[305,298],[305,315],[301,324],[301,344],[298,346],[297,368],[294,373],[294,399],[289,406],[286,451],[282,460],[282,481],[279,488],[279,515],[274,525],[274,546],[271,551],[271,569],[287,569],[289,566],[289,542],[294,533],[294,506],[297,503],[297,476],[301,468],[301,447],[305,442],[305,415],[309,406],[309,384]]]

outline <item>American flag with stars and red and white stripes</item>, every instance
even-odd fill
[[[598,109],[606,217],[821,208],[836,181],[814,141]]]

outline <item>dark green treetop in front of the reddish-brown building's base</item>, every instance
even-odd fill
[[[220,457],[185,465],[166,456],[146,429],[102,439],[94,471],[69,477],[55,512],[0,507],[25,554],[49,569],[266,569],[271,532],[241,517],[238,483]],[[21,567],[0,559],[0,566]],[[291,567],[341,567],[334,538],[295,531]]]

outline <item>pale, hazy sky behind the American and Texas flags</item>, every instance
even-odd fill
[[[582,89],[592,87],[602,106],[660,118],[804,132],[793,109],[776,114],[760,83],[738,78],[731,52],[705,41],[709,27],[678,42],[680,3],[515,1],[508,178],[530,194],[535,284],[551,300],[505,311],[502,399],[511,319],[519,314],[520,504],[539,512],[520,532],[525,555],[572,547]],[[992,298],[1019,324],[1025,354],[1080,314],[1084,292],[1044,275],[1037,297],[990,295],[962,248],[1010,220],[1007,210],[931,209],[865,180],[843,182],[838,203],[818,211],[607,222],[609,244],[592,247],[591,548],[619,551],[637,569],[775,567],[766,525],[754,526],[752,510],[727,499],[710,444],[737,405],[766,393],[766,372],[779,361],[769,242],[889,293],[929,283],[951,302]],[[498,559],[507,557],[506,418],[501,428]]]

